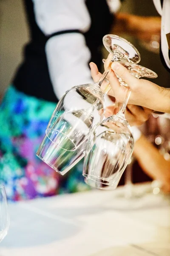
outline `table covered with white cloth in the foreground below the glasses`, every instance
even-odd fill
[[[169,198],[150,193],[127,202],[122,191],[9,204],[0,256],[170,256]]]

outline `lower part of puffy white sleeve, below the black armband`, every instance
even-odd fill
[[[59,99],[71,87],[93,82],[88,67],[91,54],[82,34],[50,38],[45,52],[54,92]]]

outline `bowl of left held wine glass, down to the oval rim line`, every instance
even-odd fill
[[[87,140],[104,114],[105,104],[99,83],[76,86],[60,99],[46,135],[60,148],[74,151]]]

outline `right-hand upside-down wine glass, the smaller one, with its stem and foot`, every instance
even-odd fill
[[[136,78],[156,78],[152,70],[137,64],[121,62]],[[121,85],[127,86],[125,81],[119,78]],[[116,188],[133,152],[134,140],[130,125],[125,119],[125,109],[130,97],[130,89],[122,107],[116,115],[105,119],[96,129],[96,141],[91,148],[88,140],[83,175],[85,182],[90,186],[100,189],[108,189],[106,186]],[[91,181],[92,180],[92,181]],[[104,186],[103,186],[104,185]]]

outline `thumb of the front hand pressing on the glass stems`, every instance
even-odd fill
[[[125,81],[130,89],[133,90],[134,85],[138,83],[138,79],[130,74],[130,72],[119,62],[113,62],[111,65],[112,70],[119,76],[123,81]]]

